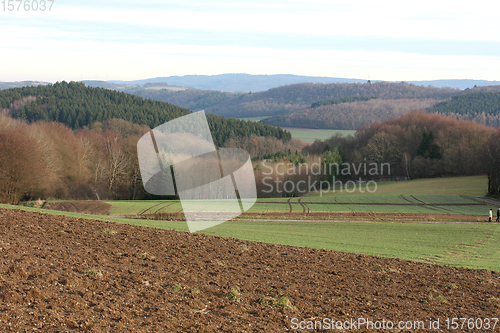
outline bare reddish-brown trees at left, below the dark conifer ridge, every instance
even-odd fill
[[[136,145],[148,130],[113,119],[75,134],[0,115],[0,201],[144,198]]]

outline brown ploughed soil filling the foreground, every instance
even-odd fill
[[[0,256],[1,331],[281,332],[327,317],[443,328],[500,313],[491,271],[19,210],[0,209]]]

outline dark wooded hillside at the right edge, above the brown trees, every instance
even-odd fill
[[[453,96],[427,111],[448,117],[472,120],[486,126],[500,127],[500,92],[498,86],[474,88]]]

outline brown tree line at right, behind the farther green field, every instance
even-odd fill
[[[500,129],[413,111],[365,125],[354,136],[335,135],[300,152],[254,159],[254,167],[262,197],[303,195],[300,182],[303,187],[316,182],[313,189],[320,190],[320,184],[360,180],[481,174],[488,175],[485,194],[500,196]]]

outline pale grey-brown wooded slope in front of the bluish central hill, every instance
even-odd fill
[[[434,105],[434,99],[372,99],[323,105],[261,120],[283,127],[355,130],[375,121],[397,118]]]

